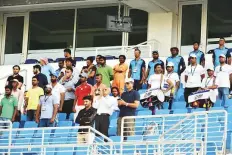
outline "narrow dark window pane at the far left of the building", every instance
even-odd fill
[[[5,54],[22,53],[24,17],[8,17]]]

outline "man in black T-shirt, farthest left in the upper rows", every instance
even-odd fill
[[[21,89],[23,85],[23,77],[19,75],[20,67],[18,65],[13,66],[13,75],[9,76],[6,81],[6,85],[12,85],[11,81],[17,79],[19,81],[18,88]]]

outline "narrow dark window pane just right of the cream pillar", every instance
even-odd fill
[[[202,4],[182,6],[181,45],[201,41]]]

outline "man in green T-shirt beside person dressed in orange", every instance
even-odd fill
[[[106,58],[104,56],[100,56],[99,61],[101,66],[97,68],[97,74],[102,75],[102,83],[110,88],[110,81],[114,79],[113,69],[106,65]]]

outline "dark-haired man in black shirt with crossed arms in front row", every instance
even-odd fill
[[[93,98],[91,96],[83,97],[85,108],[82,109],[75,120],[79,126],[91,126],[93,127],[97,110],[92,107]],[[94,135],[92,135],[88,129],[79,129],[77,135],[78,143],[92,143]]]

